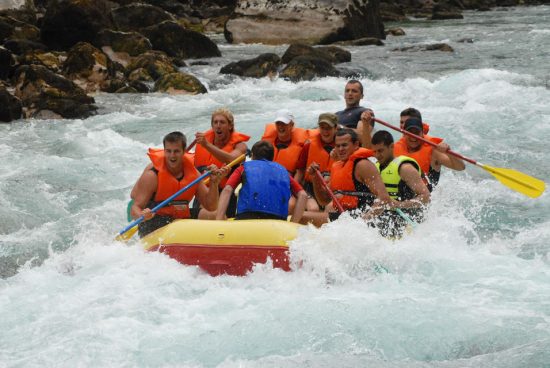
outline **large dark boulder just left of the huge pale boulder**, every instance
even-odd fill
[[[203,34],[183,28],[176,22],[165,21],[144,28],[143,34],[149,38],[155,50],[166,52],[168,56],[184,59],[221,56],[218,46]]]

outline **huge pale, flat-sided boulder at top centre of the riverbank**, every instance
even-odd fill
[[[266,44],[385,38],[379,0],[238,0],[224,34],[230,43]]]

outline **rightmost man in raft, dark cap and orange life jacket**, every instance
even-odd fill
[[[419,137],[424,137],[424,125],[422,120],[410,117],[404,121],[403,129],[411,132]],[[441,166],[446,166],[449,169],[462,171],[465,169],[464,162],[452,155],[449,155],[447,151],[450,146],[441,138],[425,137],[426,139],[437,144],[437,147],[433,147],[427,143],[423,143],[420,140],[404,135],[399,141],[395,142],[393,147],[394,156],[408,156],[414,158],[422,172],[426,175],[429,184],[433,186],[439,182],[439,176],[441,173]]]

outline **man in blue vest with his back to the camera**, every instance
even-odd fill
[[[300,184],[281,165],[272,162],[273,145],[259,141],[252,146],[252,161],[237,168],[220,196],[217,220],[225,218],[229,197],[242,182],[235,220],[275,219],[286,221],[291,193],[297,198],[291,221],[300,222],[307,199]]]

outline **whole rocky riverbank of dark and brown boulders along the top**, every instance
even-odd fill
[[[542,0],[550,2],[550,0]],[[523,2],[522,2],[523,3]],[[96,93],[206,93],[179,68],[222,56],[209,37],[290,43],[284,55],[230,63],[220,73],[292,81],[344,75],[346,45],[384,45],[383,21],[453,19],[519,0],[13,0],[0,10],[0,121],[85,118]],[[333,43],[337,46],[316,46]],[[445,45],[425,50],[450,51]]]

